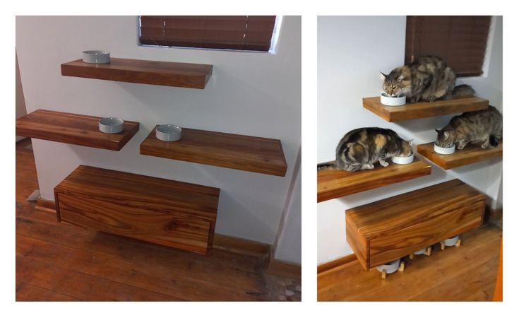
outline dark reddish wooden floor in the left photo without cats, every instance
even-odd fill
[[[21,141],[16,146],[18,301],[301,299],[300,280],[266,274],[265,257],[221,249],[194,254],[58,223],[55,212],[25,201],[37,188],[30,141]],[[288,285],[297,287],[295,293],[286,293]]]

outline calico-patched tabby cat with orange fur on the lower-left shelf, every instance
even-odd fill
[[[391,129],[359,128],[345,134],[335,149],[335,161],[317,165],[317,170],[340,169],[357,171],[373,169],[378,161],[383,167],[386,159],[412,155],[411,144]]]

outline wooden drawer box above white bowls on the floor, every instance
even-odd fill
[[[347,242],[367,271],[483,223],[487,196],[458,179],[346,211]]]

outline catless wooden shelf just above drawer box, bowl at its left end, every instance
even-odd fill
[[[156,128],[156,127],[155,127]],[[155,129],[141,143],[141,155],[216,165],[284,177],[287,161],[281,141],[182,128],[179,141],[160,141]]]

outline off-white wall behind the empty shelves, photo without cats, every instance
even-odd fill
[[[17,17],[16,47],[28,112],[58,110],[141,122],[119,152],[33,140],[40,192],[78,165],[221,188],[216,232],[273,244],[301,143],[301,18],[285,17],[276,54],[140,47],[136,16]],[[213,64],[204,90],[61,76],[85,49],[112,57]],[[286,177],[139,155],[155,124],[280,139]]]

